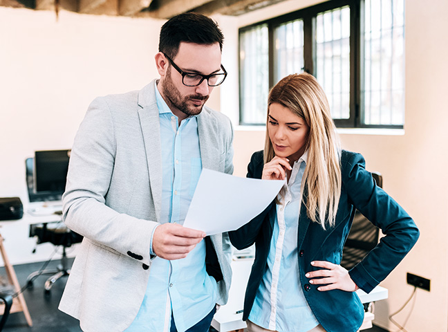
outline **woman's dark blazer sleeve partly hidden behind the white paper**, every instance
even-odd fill
[[[248,165],[247,178],[261,178],[263,172],[263,151],[257,151],[252,154],[250,163]],[[245,249],[254,244],[256,237],[260,232],[261,225],[267,216],[268,212],[275,205],[274,201],[268,205],[263,212],[261,212],[254,219],[241,226],[238,230],[229,232],[230,241],[236,249]]]

